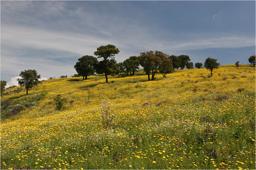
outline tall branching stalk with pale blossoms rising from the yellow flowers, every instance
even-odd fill
[[[100,110],[101,110],[101,117],[102,117],[102,119],[101,119],[102,127],[104,129],[106,129],[107,135],[108,135],[108,130],[111,127],[111,122],[114,118],[114,114],[111,114],[110,104],[109,104],[109,102],[106,103],[105,99],[103,100],[103,102],[101,104]]]

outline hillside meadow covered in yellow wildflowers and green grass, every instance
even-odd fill
[[[28,96],[2,96],[40,100],[2,119],[1,169],[255,169],[255,68],[209,73],[175,70],[146,81],[139,72],[108,84],[104,76],[50,79]],[[61,111],[57,94],[68,99]],[[114,114],[108,136],[104,98]]]

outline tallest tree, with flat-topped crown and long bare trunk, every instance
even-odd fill
[[[114,45],[108,44],[106,46],[100,46],[97,48],[97,51],[94,52],[94,55],[98,56],[98,59],[103,58],[103,71],[105,70],[104,74],[106,77],[106,83],[108,82],[108,73],[107,73],[107,59],[111,58],[114,59],[114,55],[118,54],[120,51]]]

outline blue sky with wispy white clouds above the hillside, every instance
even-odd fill
[[[140,52],[247,64],[255,55],[255,1],[3,1],[1,80],[21,71],[42,79],[76,74],[74,65],[113,44],[117,62]],[[101,60],[101,59],[98,59]]]

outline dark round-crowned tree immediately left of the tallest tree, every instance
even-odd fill
[[[95,73],[95,67],[98,64],[96,57],[85,55],[78,59],[74,68],[79,76],[83,76],[83,80],[87,80],[88,75]]]

